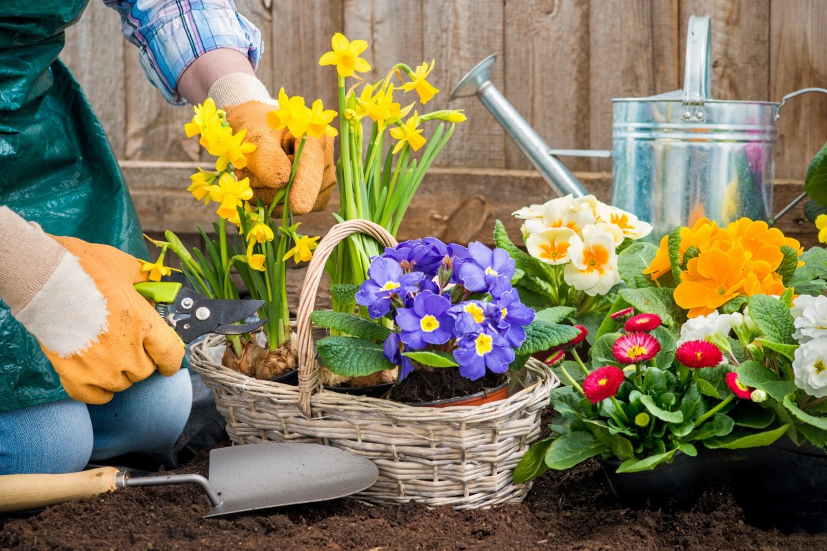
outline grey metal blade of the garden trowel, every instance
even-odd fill
[[[213,449],[209,483],[222,498],[206,515],[349,496],[370,487],[379,469],[360,455],[321,444],[245,444]]]

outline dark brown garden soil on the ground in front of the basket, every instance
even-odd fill
[[[200,454],[180,472],[207,468]],[[827,534],[746,525],[729,489],[714,481],[692,511],[624,509],[596,462],[546,473],[522,504],[490,511],[344,499],[201,518],[207,512],[195,487],[129,488],[0,520],[0,549],[827,549]]]

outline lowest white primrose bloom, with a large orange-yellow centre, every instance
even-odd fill
[[[566,264],[566,283],[590,297],[605,295],[620,283],[614,237],[605,229],[591,224],[583,228],[583,240],[569,245],[571,263]]]

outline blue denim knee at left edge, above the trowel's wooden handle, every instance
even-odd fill
[[[92,445],[92,423],[79,401],[0,412],[0,474],[76,473]]]

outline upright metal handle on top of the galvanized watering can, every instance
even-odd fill
[[[710,18],[689,17],[686,33],[686,72],[683,77],[683,119],[703,121],[704,102],[712,88]]]

